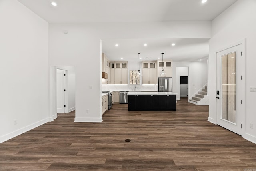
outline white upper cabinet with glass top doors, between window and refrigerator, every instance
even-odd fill
[[[156,84],[156,61],[142,62],[142,84]]]

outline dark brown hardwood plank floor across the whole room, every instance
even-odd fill
[[[102,123],[61,114],[0,144],[0,170],[256,171],[256,144],[207,118],[208,106],[185,99],[176,111],[114,104]]]

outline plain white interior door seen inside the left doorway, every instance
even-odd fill
[[[57,113],[65,113],[65,80],[64,70],[57,69],[56,93],[57,93]]]

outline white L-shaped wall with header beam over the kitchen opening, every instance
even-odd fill
[[[49,60],[51,66],[76,66],[75,121],[100,122],[101,39],[210,37],[211,22],[50,24]]]

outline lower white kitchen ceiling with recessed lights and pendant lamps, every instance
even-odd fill
[[[209,47],[208,38],[112,39],[102,40],[102,52],[112,61],[138,61],[138,53],[142,61],[162,60],[161,53],[164,60],[194,61],[208,57]]]

